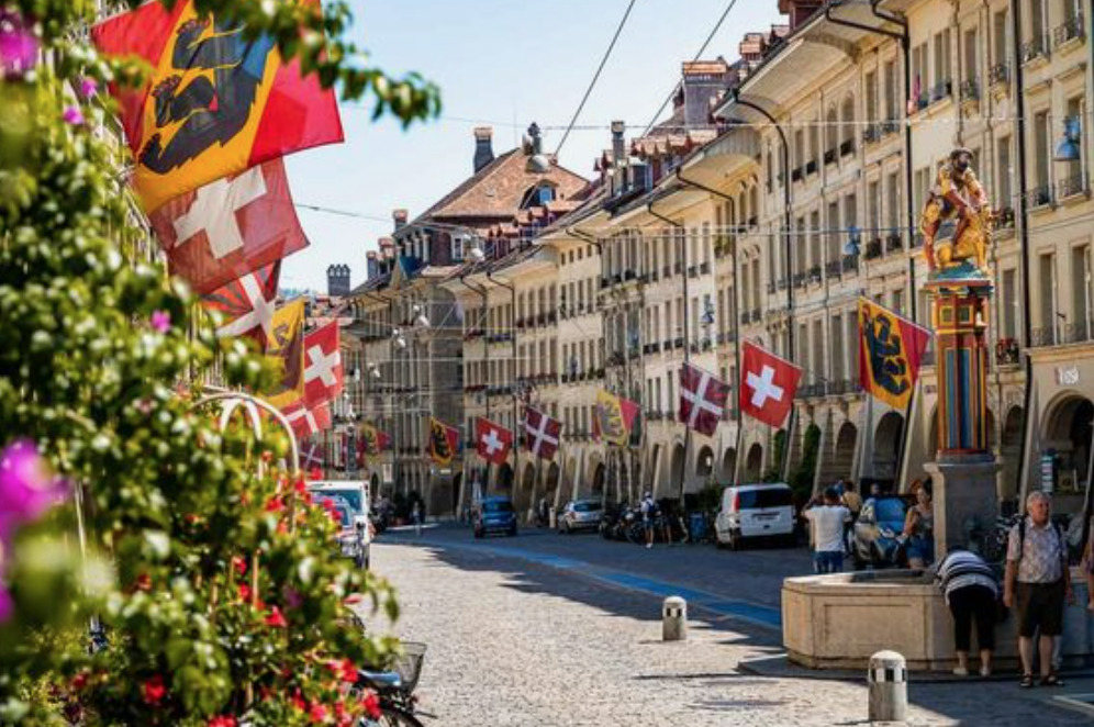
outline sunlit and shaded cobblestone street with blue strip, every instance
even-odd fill
[[[804,551],[647,551],[545,533],[480,543],[455,528],[421,539],[391,534],[375,548],[375,568],[402,605],[391,628],[429,645],[418,689],[423,709],[436,715],[427,724],[866,724],[861,682],[737,669],[743,659],[779,652],[779,634],[762,618],[702,608],[686,644],[660,641],[661,595],[650,589],[682,585],[770,609],[777,596],[741,584],[773,588],[807,564]],[[711,572],[723,578],[697,580],[718,567]],[[623,581],[606,578],[613,574]],[[638,574],[637,585],[626,582]],[[1073,680],[1065,691],[1094,692],[1094,680]],[[1087,724],[1051,704],[1053,694],[1019,692],[1013,682],[913,683],[909,724]]]

